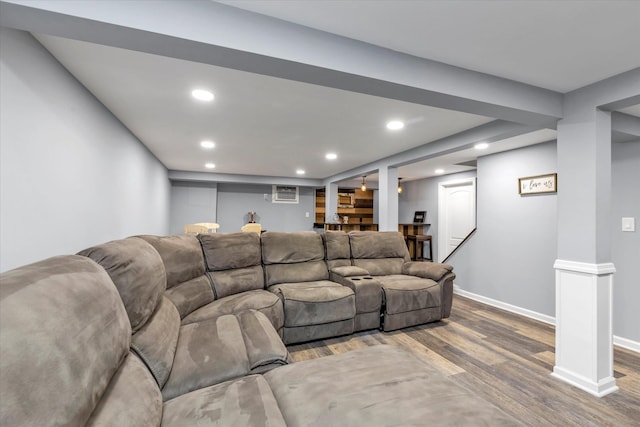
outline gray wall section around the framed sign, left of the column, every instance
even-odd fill
[[[462,289],[555,316],[557,195],[518,194],[518,178],[555,171],[555,142],[478,159],[478,231]]]

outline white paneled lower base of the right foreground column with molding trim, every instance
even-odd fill
[[[595,396],[618,390],[613,377],[612,263],[557,260],[553,375]]]

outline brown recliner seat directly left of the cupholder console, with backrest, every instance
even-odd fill
[[[355,296],[329,281],[320,234],[268,231],[261,242],[267,289],[284,305],[286,344],[353,333]]]

